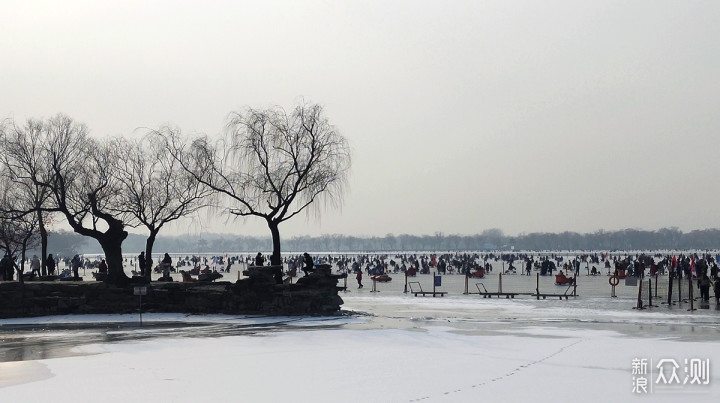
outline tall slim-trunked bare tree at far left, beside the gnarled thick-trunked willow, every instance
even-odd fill
[[[13,197],[6,198],[7,203],[0,209],[9,219],[36,223],[40,235],[43,274],[46,274],[45,258],[48,252],[46,224],[54,210],[49,188],[41,185],[50,181],[45,147],[47,141],[44,122],[39,119],[28,119],[24,125],[17,125],[8,119],[0,126],[0,149],[4,151],[0,154],[2,174],[10,181],[7,189],[13,190]]]

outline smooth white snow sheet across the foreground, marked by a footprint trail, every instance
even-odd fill
[[[633,358],[720,362],[714,342],[551,327],[510,336],[453,327],[287,331],[93,344],[75,352],[86,355],[34,361],[34,377],[0,388],[0,400],[631,401],[643,397],[632,393]],[[0,364],[0,379],[18,365]],[[46,376],[38,376],[43,371]],[[709,385],[681,392],[715,401],[720,378],[712,374]],[[654,402],[677,398],[652,395]]]

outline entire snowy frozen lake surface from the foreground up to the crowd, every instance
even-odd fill
[[[541,291],[565,290],[541,280]],[[432,288],[431,276],[413,281]],[[367,279],[360,290],[349,284],[346,314],[335,317],[146,314],[142,327],[137,315],[0,320],[0,402],[720,396],[714,301],[633,310],[636,288],[611,298],[605,276],[583,276],[580,297],[567,301],[462,295],[462,276],[443,278],[444,298],[412,297],[404,277],[393,282],[376,293]],[[498,286],[489,276],[470,291],[478,282]],[[533,276],[503,277],[504,291],[535,286]]]

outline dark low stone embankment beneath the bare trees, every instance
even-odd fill
[[[343,304],[337,280],[318,270],[296,284],[277,284],[279,267],[250,267],[247,279],[235,283],[152,282],[142,297],[143,312],[224,313],[261,315],[328,315]],[[135,285],[138,286],[138,285]],[[133,285],[104,282],[0,283],[0,318],[134,313],[140,297]]]

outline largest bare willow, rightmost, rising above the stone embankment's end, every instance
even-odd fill
[[[291,113],[279,107],[232,113],[226,139],[216,144],[207,137],[190,144],[179,136],[166,139],[189,173],[230,202],[230,214],[266,221],[271,264],[282,263],[282,222],[303,210],[318,212],[318,202],[342,202],[350,149],[320,105],[302,103]]]

